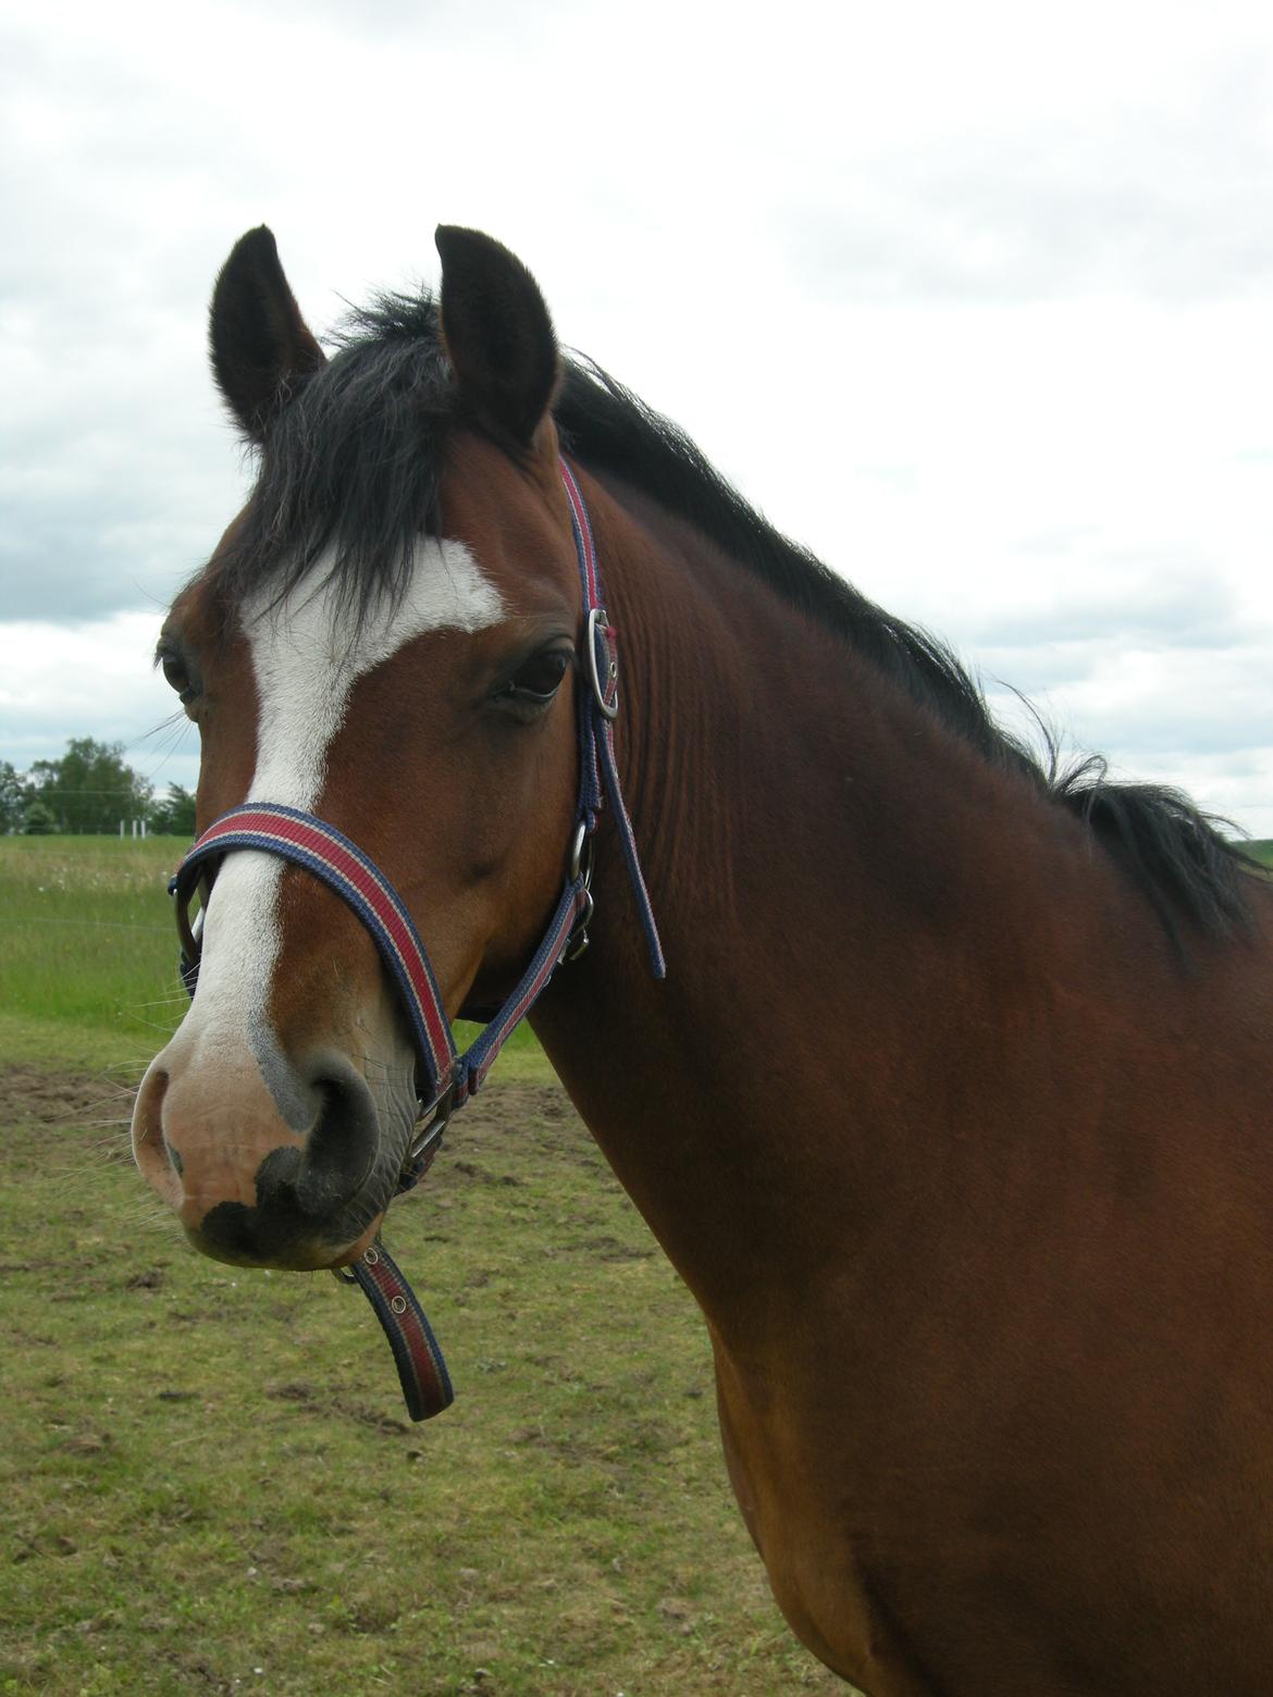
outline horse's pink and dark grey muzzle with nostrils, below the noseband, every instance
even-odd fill
[[[401,1086],[373,1093],[333,1050],[299,1066],[275,1054],[263,1067],[222,1044],[188,1052],[178,1035],[137,1091],[132,1152],[204,1254],[343,1266],[372,1242],[395,1188],[414,1122],[409,1073]]]

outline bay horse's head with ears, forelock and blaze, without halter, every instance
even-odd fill
[[[200,832],[270,803],[356,842],[453,1018],[516,984],[562,891],[582,602],[548,311],[497,243],[436,239],[438,305],[385,299],[331,358],[270,231],[234,248],[212,367],[260,468],[158,664],[199,726]],[[137,1164],[217,1259],[346,1264],[416,1125],[407,1015],[302,867],[239,850],[200,871],[197,989],[143,1081]]]

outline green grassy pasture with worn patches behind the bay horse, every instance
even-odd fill
[[[769,1597],[698,1313],[530,1035],[390,1217],[440,1420],[355,1291],[187,1249],[127,1149],[180,852],[0,838],[0,1692],[845,1690]]]

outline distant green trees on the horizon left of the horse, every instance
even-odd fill
[[[182,784],[156,796],[124,762],[124,743],[92,736],[73,736],[59,760],[36,760],[27,772],[0,760],[0,833],[102,837],[121,820],[126,832],[141,820],[151,833],[193,837],[195,798]]]

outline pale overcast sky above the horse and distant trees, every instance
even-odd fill
[[[311,326],[489,231],[562,341],[991,703],[1273,837],[1273,7],[0,0],[0,760],[195,733],[149,667]]]

